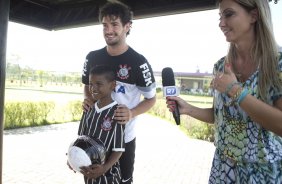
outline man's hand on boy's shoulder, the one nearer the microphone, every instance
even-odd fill
[[[114,119],[118,121],[119,124],[124,125],[132,119],[132,111],[127,106],[120,104],[115,110]]]

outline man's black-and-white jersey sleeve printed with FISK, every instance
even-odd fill
[[[153,98],[156,95],[156,81],[151,65],[143,57],[144,62],[137,66],[137,88],[145,98]]]

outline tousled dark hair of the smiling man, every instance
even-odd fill
[[[109,16],[111,18],[120,18],[121,23],[124,26],[127,23],[132,24],[133,12],[127,5],[119,1],[107,2],[100,8],[99,21],[102,22],[102,19],[106,16]],[[129,32],[130,30],[127,32],[127,35],[129,34]]]

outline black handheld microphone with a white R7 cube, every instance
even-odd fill
[[[162,83],[163,83],[163,95],[167,96],[178,96],[179,89],[175,86],[174,74],[171,68],[166,67],[162,70]],[[178,104],[175,101],[175,108],[172,111],[173,118],[177,125],[180,125],[180,113]]]

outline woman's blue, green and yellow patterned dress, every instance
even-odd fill
[[[224,58],[215,66],[215,72],[222,72]],[[282,56],[279,59],[282,80]],[[258,96],[258,71],[243,87],[249,94]],[[267,103],[282,97],[282,91],[269,87]],[[282,137],[265,130],[254,122],[238,104],[224,93],[214,93],[215,154],[209,183],[238,184],[281,184],[282,183]],[[281,119],[282,123],[282,119]]]

